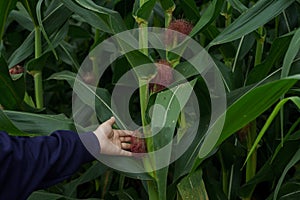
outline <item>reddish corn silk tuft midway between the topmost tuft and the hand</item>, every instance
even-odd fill
[[[157,74],[150,82],[151,92],[159,92],[174,81],[173,69],[168,61],[159,60],[155,63],[155,66],[157,68]]]

